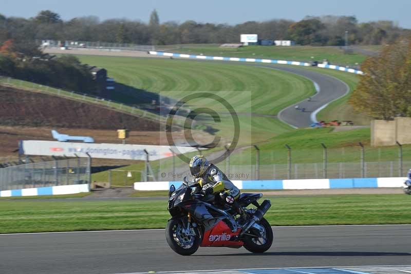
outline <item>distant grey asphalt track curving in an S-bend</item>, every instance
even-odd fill
[[[319,90],[317,90],[317,93],[311,97],[311,101],[304,99],[299,103],[286,107],[277,115],[279,119],[290,125],[293,125],[294,127],[310,126],[310,124],[313,123],[313,121],[311,120],[311,115],[313,112],[349,92],[349,87],[347,86],[347,84],[337,78],[321,74],[320,72],[278,65],[260,66],[280,69],[291,72],[293,74],[304,76],[312,80],[317,85],[316,88],[319,88]],[[290,92],[292,92],[292,90],[290,90]],[[298,105],[299,109],[295,109],[296,105]],[[303,108],[305,108],[304,111],[302,110]]]

